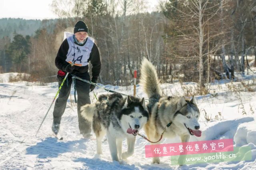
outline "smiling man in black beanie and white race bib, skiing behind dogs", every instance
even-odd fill
[[[65,111],[68,96],[72,85],[72,75],[90,81],[88,73],[88,62],[92,64],[93,83],[97,83],[100,74],[100,53],[94,43],[94,39],[87,36],[88,27],[83,21],[78,21],[74,27],[74,34],[66,34],[66,39],[60,45],[60,49],[55,59],[55,65],[58,71],[59,86],[62,83],[66,73],[70,73],[60,89],[58,99],[54,105],[52,131],[58,134],[60,130],[61,117]],[[74,66],[71,65],[74,63]],[[77,113],[80,134],[84,138],[90,137],[91,124],[81,116],[80,107],[90,104],[90,91],[95,88],[84,81],[76,79],[75,81],[77,99]]]

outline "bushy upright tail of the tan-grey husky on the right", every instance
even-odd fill
[[[140,85],[142,85],[143,91],[148,95],[148,98],[161,96],[162,90],[156,69],[145,57],[142,59],[140,72]]]

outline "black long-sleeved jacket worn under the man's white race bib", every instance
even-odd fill
[[[84,43],[86,43],[86,42],[87,42],[87,38]],[[79,45],[79,44],[77,44],[77,45]],[[80,46],[83,46],[83,45],[80,45]],[[60,45],[60,49],[55,58],[56,67],[62,71],[65,71],[66,66],[69,64],[68,62],[66,62],[68,49],[69,49],[68,40],[65,39],[62,42],[62,44]],[[92,81],[95,82],[98,80],[98,76],[100,75],[100,67],[101,67],[100,53],[99,53],[98,47],[95,43],[92,46],[92,51],[90,53],[88,62],[89,61],[92,64]],[[75,69],[72,72],[72,74],[77,75],[77,76],[79,76],[82,73],[87,73],[88,69],[89,69],[89,65],[81,66],[81,67],[74,65],[74,67],[75,67]]]

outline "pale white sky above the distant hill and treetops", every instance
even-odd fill
[[[153,8],[158,0],[148,0]],[[0,18],[58,18],[50,9],[52,0],[0,0]]]

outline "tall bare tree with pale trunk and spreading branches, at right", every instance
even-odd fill
[[[170,0],[169,4],[169,14],[170,16],[178,15],[179,20],[175,20],[175,26],[180,28],[181,31],[176,31],[176,38],[178,38],[178,43],[176,52],[174,55],[177,57],[189,59],[193,61],[197,59],[198,61],[198,84],[200,87],[204,87],[204,63],[207,62],[207,55],[214,54],[220,45],[218,37],[224,34],[223,31],[215,30],[211,27],[220,25],[220,20],[218,14],[222,8],[220,3],[211,0]],[[168,11],[167,11],[168,12]],[[178,23],[178,24],[177,24]],[[211,29],[208,34],[208,29]],[[174,27],[175,30],[175,27]],[[211,48],[206,48],[207,44],[211,45]],[[208,49],[210,51],[208,51]],[[182,57],[181,57],[182,58]]]

